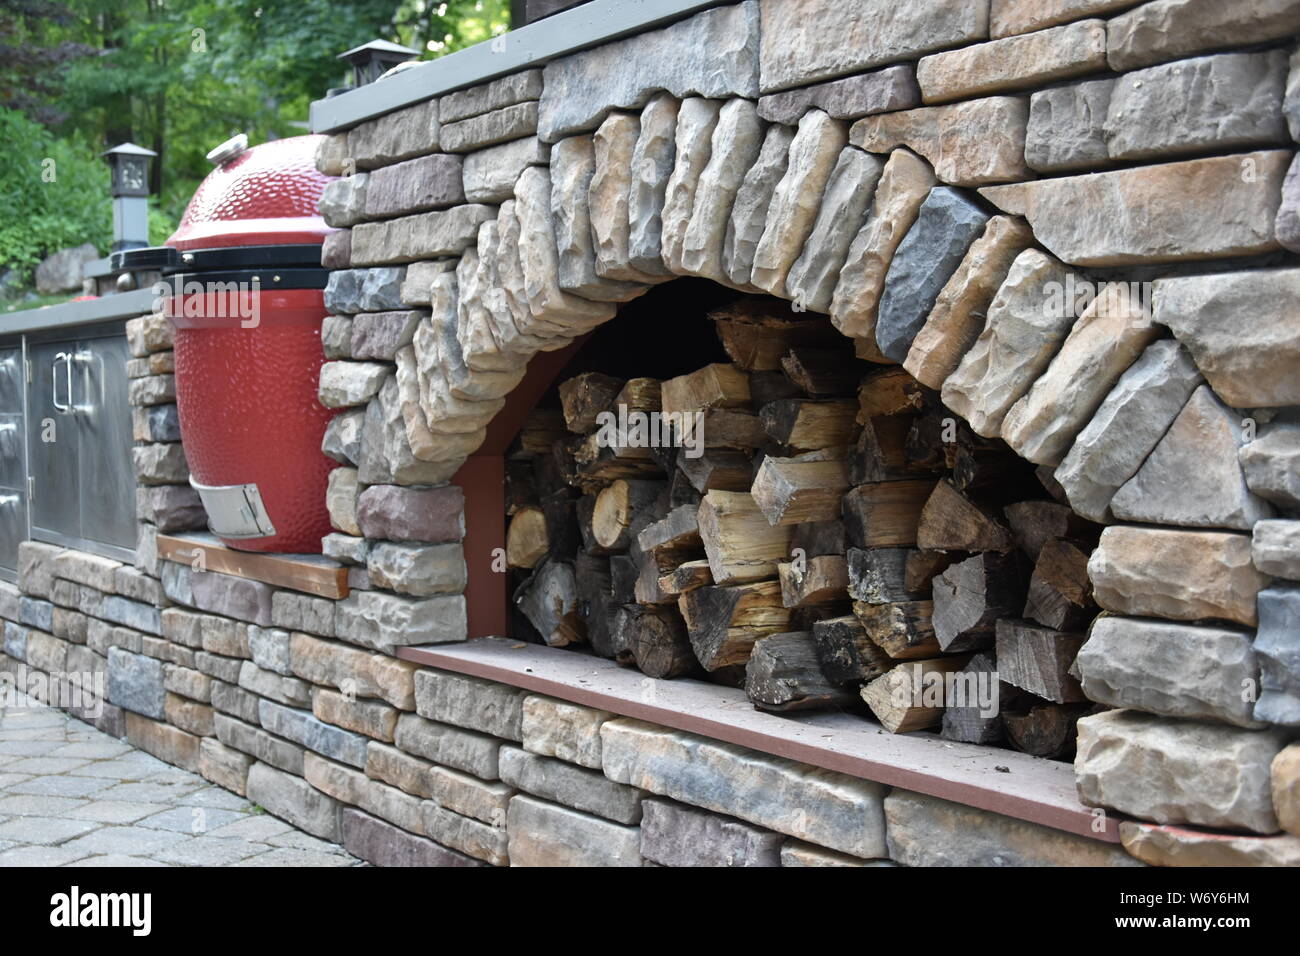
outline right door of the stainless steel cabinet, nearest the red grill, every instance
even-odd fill
[[[135,466],[122,336],[78,343],[73,406],[79,434],[81,536],[109,548],[135,548]],[[125,555],[129,557],[129,555]]]

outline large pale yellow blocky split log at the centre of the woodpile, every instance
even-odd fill
[[[774,579],[776,564],[789,557],[789,525],[768,524],[748,493],[708,492],[697,514],[705,555],[719,587]]]

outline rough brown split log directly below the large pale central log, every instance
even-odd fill
[[[790,611],[781,605],[777,581],[696,588],[677,598],[677,607],[707,671],[745,663],[754,641],[789,630]]]

